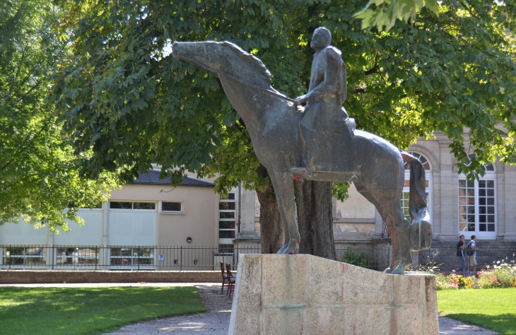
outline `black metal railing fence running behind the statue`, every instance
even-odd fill
[[[414,252],[411,270],[450,272],[459,268],[456,249],[433,248]],[[219,270],[220,262],[237,269],[240,254],[259,254],[259,247],[185,247],[185,246],[54,246],[0,245],[0,269],[47,270]],[[383,271],[392,259],[392,246],[336,247],[336,259],[348,264]],[[497,261],[516,261],[515,249],[479,249],[476,271]],[[467,261],[467,265],[470,262]],[[472,267],[472,266],[471,266]]]

